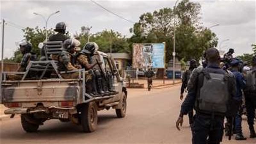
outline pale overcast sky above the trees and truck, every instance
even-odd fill
[[[176,0],[96,0],[128,20],[137,22],[141,14],[154,12],[164,7],[173,7]],[[256,43],[256,0],[190,0],[201,4],[201,22],[212,27],[221,43],[221,49],[235,49],[235,55],[252,53],[252,43]],[[23,39],[22,28],[39,26],[45,22],[39,13],[49,18],[48,28],[58,22],[65,22],[71,34],[80,32],[81,26],[92,26],[91,32],[113,29],[130,37],[129,29],[134,23],[113,15],[90,0],[0,0],[0,18],[7,21],[4,30],[4,58],[10,58],[17,49],[15,43]],[[2,43],[2,23],[0,24]],[[177,48],[178,49],[178,48]]]

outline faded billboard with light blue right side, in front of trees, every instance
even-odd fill
[[[133,68],[164,68],[165,43],[134,43]]]

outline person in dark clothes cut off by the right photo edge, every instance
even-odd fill
[[[256,56],[252,60],[253,68],[246,72],[246,88],[244,89],[245,105],[247,110],[247,123],[250,129],[250,138],[256,138],[254,130],[254,115],[256,109]]]

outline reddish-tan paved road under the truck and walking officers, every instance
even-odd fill
[[[181,131],[175,121],[180,110],[179,86],[165,89],[128,91],[128,110],[125,118],[116,118],[113,109],[99,112],[96,132],[82,133],[79,126],[58,120],[45,122],[36,133],[22,130],[19,116],[0,121],[0,144],[190,144],[188,118]],[[248,137],[247,124],[243,121]],[[227,141],[225,144],[255,144],[256,139]]]

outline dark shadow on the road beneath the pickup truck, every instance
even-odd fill
[[[72,122],[61,122],[59,120],[49,120],[40,126],[38,132],[27,133],[23,131],[21,124],[20,127],[12,127],[15,130],[9,130],[9,132],[1,132],[1,138],[10,138],[14,141],[26,139],[41,139],[41,140],[51,140],[56,138],[79,138],[81,136],[90,136],[95,133],[101,132],[102,130],[108,128],[107,123],[111,121],[118,121],[116,115],[111,114],[101,114],[98,115],[98,127],[95,132],[84,133],[82,132],[81,125],[73,124]],[[20,130],[17,130],[20,129]]]

